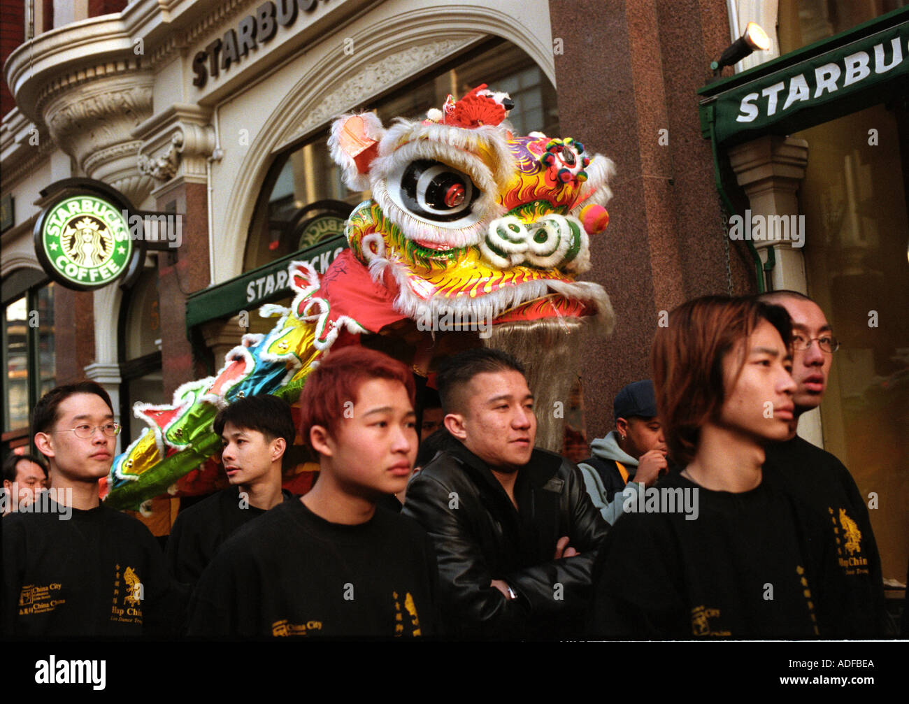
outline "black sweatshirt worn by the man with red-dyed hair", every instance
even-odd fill
[[[341,525],[285,501],[218,550],[193,593],[189,635],[433,635],[436,583],[415,521],[377,508]]]

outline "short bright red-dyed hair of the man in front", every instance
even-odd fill
[[[360,345],[329,352],[306,377],[300,394],[300,436],[307,447],[309,431],[319,425],[334,432],[344,418],[345,403],[355,403],[360,387],[373,379],[401,382],[413,406],[414,374],[404,362]],[[419,434],[419,433],[418,433]]]

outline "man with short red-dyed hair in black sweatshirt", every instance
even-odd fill
[[[435,630],[435,553],[377,508],[416,455],[414,377],[381,352],[331,352],[309,375],[300,431],[319,454],[312,491],[225,542],[190,603],[198,636],[415,637]]]

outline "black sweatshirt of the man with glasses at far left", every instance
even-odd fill
[[[145,525],[104,505],[68,520],[51,508],[3,519],[5,637],[175,634],[185,593]]]

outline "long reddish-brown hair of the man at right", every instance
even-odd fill
[[[668,326],[657,330],[651,353],[656,407],[675,461],[694,460],[701,426],[717,420],[725,400],[724,357],[762,320],[791,349],[789,313],[752,297],[704,296],[684,302],[669,313]],[[743,365],[744,360],[736,378]]]

